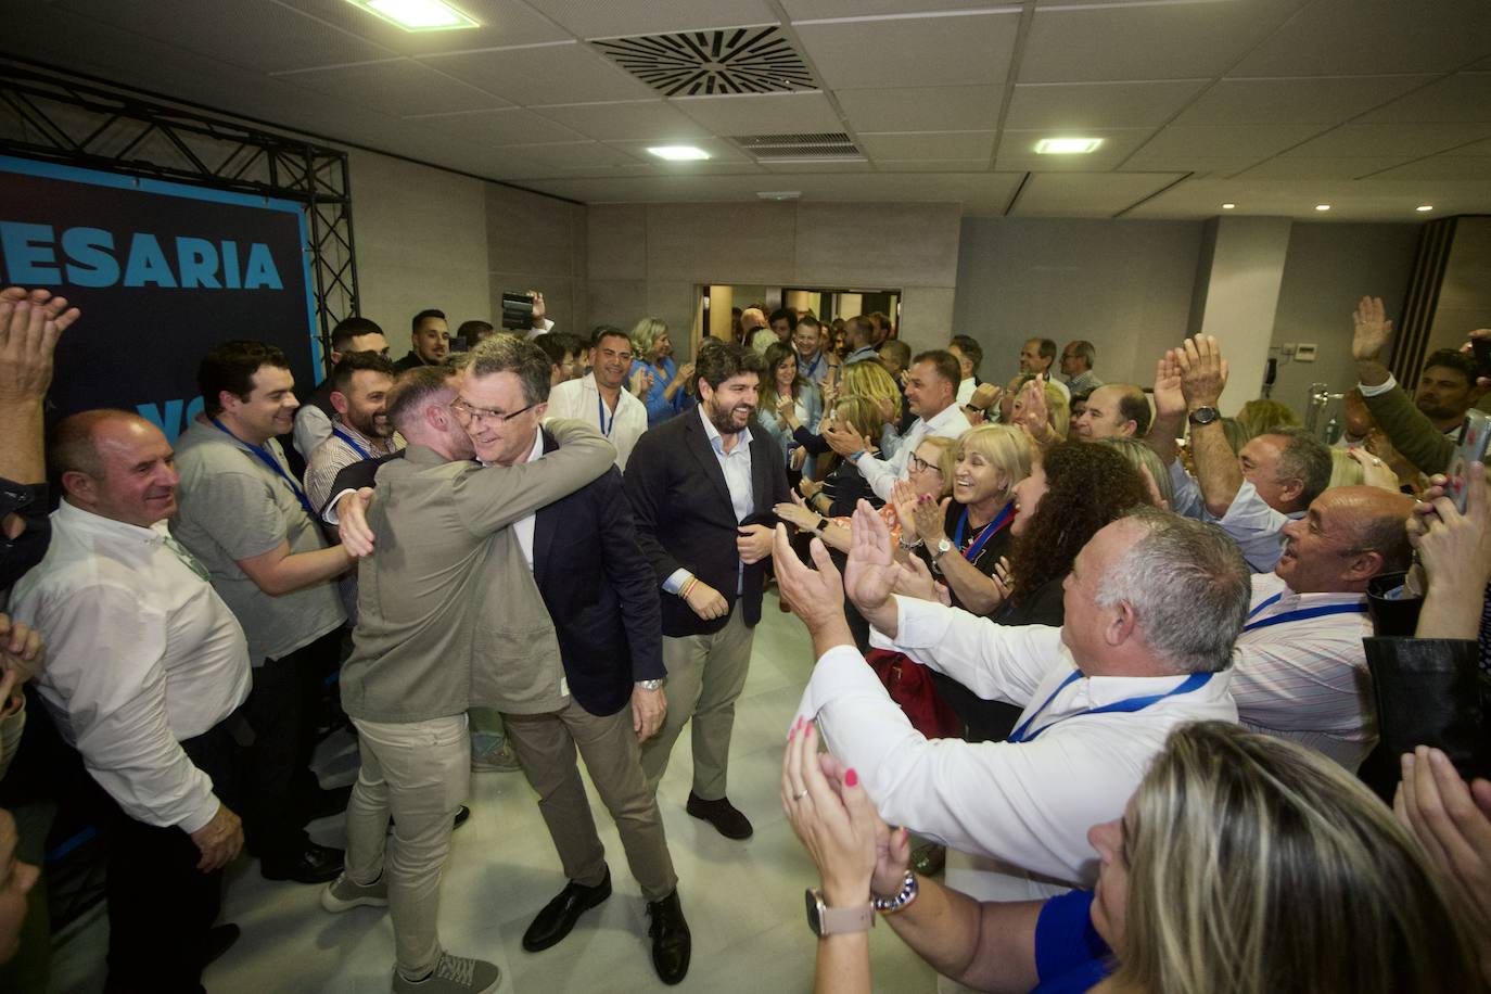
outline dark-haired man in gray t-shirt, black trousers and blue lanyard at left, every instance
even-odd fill
[[[346,623],[334,580],[353,560],[327,547],[274,441],[298,407],[285,353],[228,341],[203,358],[197,382],[204,411],[177,441],[171,532],[207,568],[249,639],[248,843],[270,879],[327,881],[341,852],[313,845],[303,826],[319,800],[309,770],[313,706]]]

